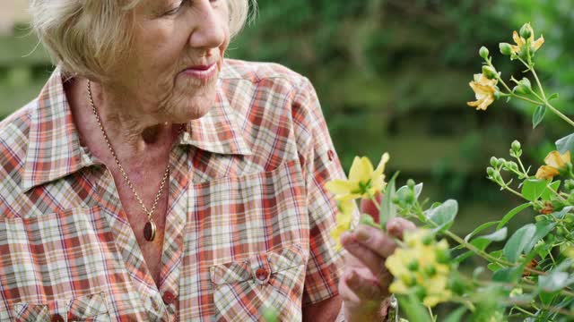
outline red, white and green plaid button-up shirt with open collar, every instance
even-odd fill
[[[344,174],[309,80],[226,61],[170,152],[159,288],[62,81],[0,123],[1,321],[300,320],[337,294],[323,185]]]

